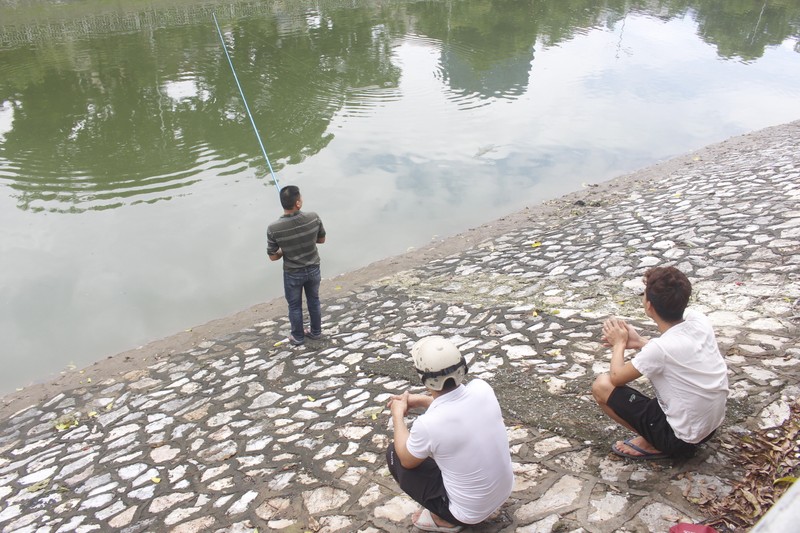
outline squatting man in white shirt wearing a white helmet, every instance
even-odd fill
[[[481,379],[462,385],[467,363],[439,336],[411,348],[414,367],[428,394],[392,396],[394,442],[386,451],[389,471],[423,506],[412,518],[423,531],[460,531],[494,513],[511,494],[514,474],[508,436],[494,391]],[[424,408],[411,430],[409,409]],[[477,429],[477,431],[476,431]]]

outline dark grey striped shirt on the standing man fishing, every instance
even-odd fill
[[[317,239],[324,236],[325,228],[316,213],[283,215],[267,228],[267,253],[283,250],[283,269],[288,271],[318,265]]]

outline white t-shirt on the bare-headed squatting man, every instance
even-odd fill
[[[705,315],[687,310],[683,322],[645,344],[631,363],[652,382],[676,437],[696,444],[722,424],[728,367]]]

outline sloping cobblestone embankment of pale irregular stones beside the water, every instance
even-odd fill
[[[416,505],[383,464],[385,403],[419,390],[404,354],[434,333],[495,387],[512,445],[513,495],[471,531],[701,520],[696,503],[741,475],[736,450],[611,456],[624,432],[589,393],[609,363],[600,325],[618,315],[652,333],[641,274],[678,266],[729,365],[723,436],[779,425],[800,390],[799,144],[800,122],[737,137],[396,260],[388,277],[329,281],[326,337],[304,347],[285,342],[280,304],[138,369],[87,372],[27,408],[8,400],[0,528],[409,531]]]

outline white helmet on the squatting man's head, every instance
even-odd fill
[[[461,352],[455,344],[438,335],[418,340],[411,347],[411,358],[422,384],[431,390],[442,390],[449,378],[453,378],[457,387],[467,374],[467,361]]]

